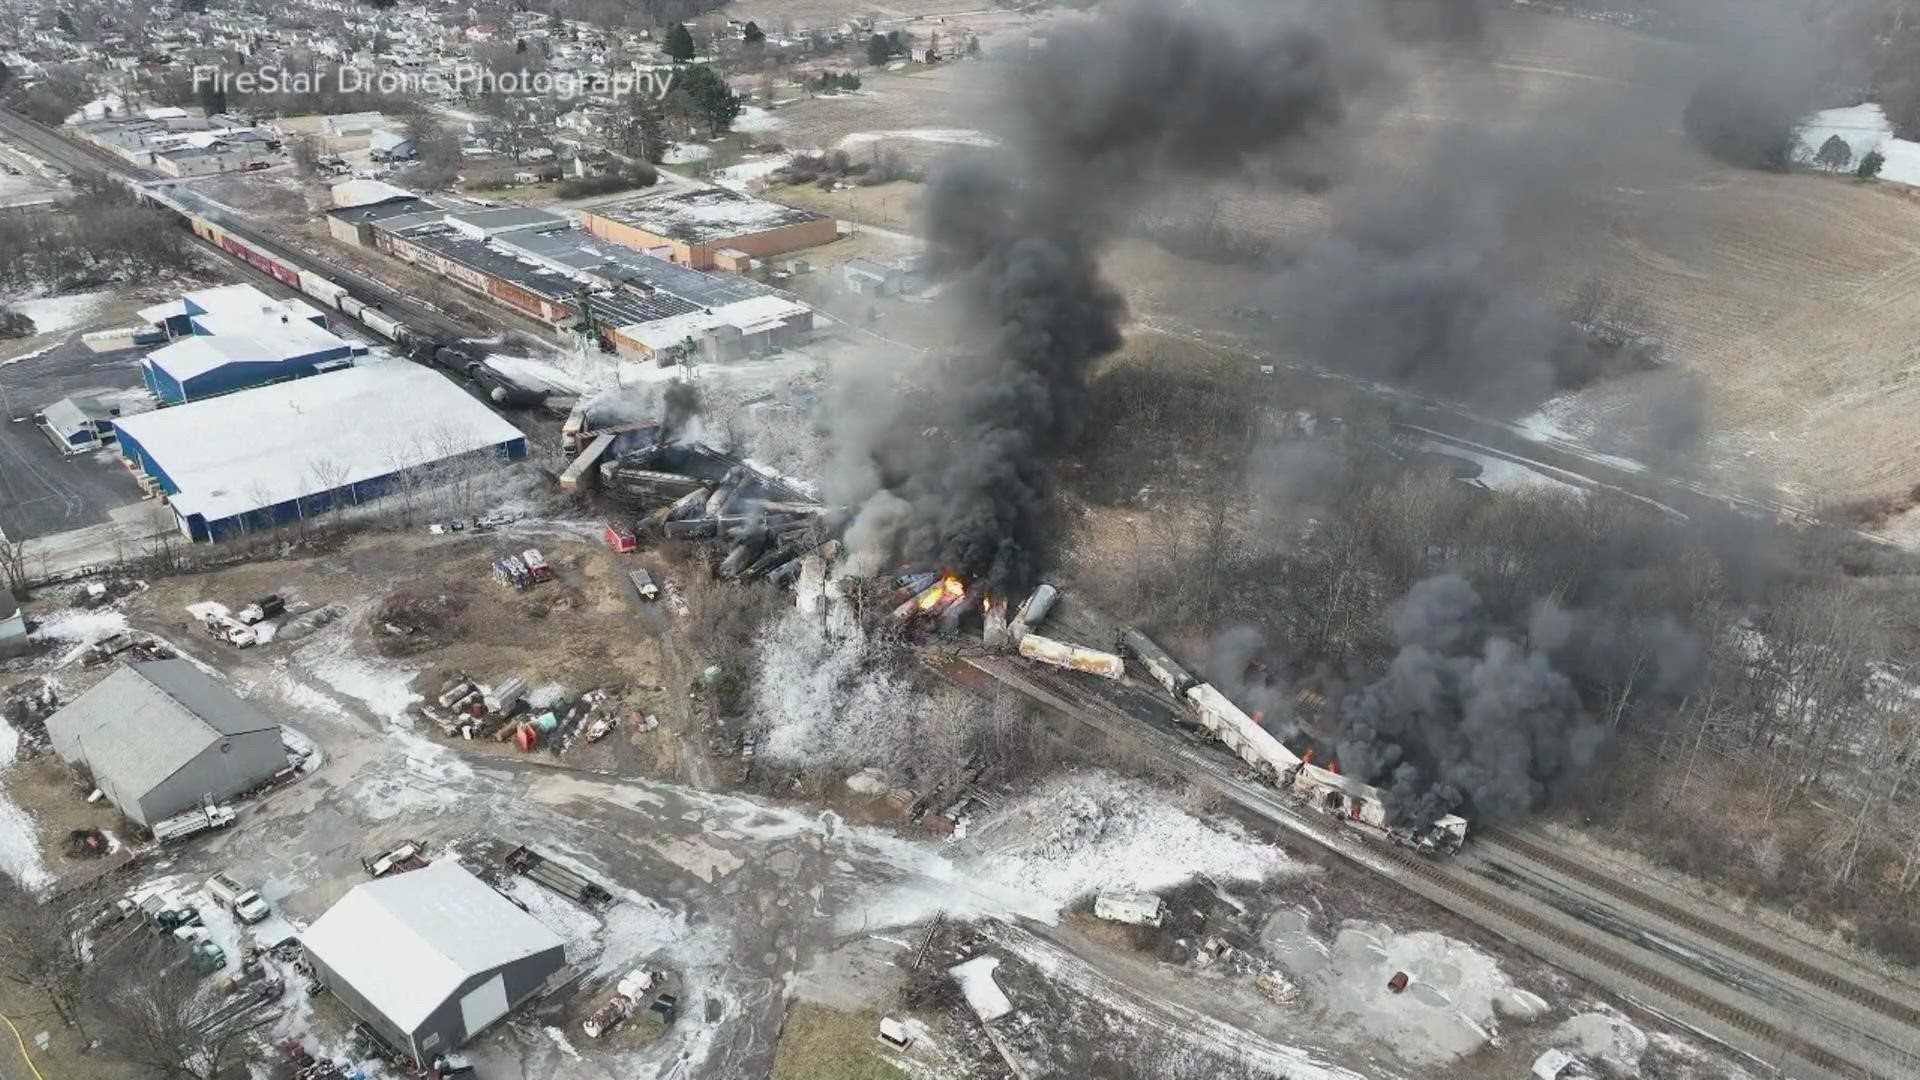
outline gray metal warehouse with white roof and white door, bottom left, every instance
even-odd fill
[[[449,861],[353,886],[300,944],[334,997],[422,1065],[566,967],[553,930]]]

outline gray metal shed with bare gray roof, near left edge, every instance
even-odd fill
[[[46,736],[146,826],[286,769],[280,724],[184,659],[123,665],[48,717]]]

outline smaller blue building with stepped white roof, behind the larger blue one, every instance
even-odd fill
[[[188,292],[140,317],[173,338],[140,363],[148,392],[167,405],[346,367],[367,352],[334,336],[305,300],[273,300],[252,284]]]

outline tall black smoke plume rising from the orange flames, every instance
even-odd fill
[[[1219,177],[1338,125],[1379,35],[1336,6],[1133,4],[1071,23],[1008,81],[991,152],[929,179],[929,254],[977,329],[937,386],[843,461],[854,536],[887,555],[1025,584],[1050,536],[1046,457],[1121,344],[1100,254],[1156,181]]]

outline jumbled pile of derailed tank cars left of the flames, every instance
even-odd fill
[[[829,544],[849,517],[739,457],[687,442],[607,461],[601,488],[645,511],[636,532],[712,542],[720,553],[714,573],[728,580],[793,582],[801,557]]]

